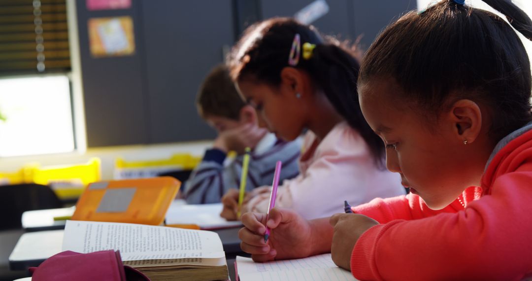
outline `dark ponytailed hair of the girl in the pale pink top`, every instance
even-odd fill
[[[228,59],[235,81],[252,78],[279,86],[280,73],[288,67],[288,55],[294,36],[301,44],[315,44],[309,60],[301,58],[295,68],[303,69],[314,86],[327,97],[335,110],[359,132],[370,147],[379,167],[384,167],[384,145],[371,130],[360,110],[356,81],[360,69],[353,50],[334,38],[323,38],[313,26],[305,26],[290,18],[273,18],[254,24],[232,49]]]

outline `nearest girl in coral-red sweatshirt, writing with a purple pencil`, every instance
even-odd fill
[[[532,39],[516,5],[484,2]],[[365,54],[359,101],[410,193],[330,219],[246,213],[242,249],[256,261],[330,251],[362,280],[530,278],[532,82],[511,26],[463,0],[390,24]]]

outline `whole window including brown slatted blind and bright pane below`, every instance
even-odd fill
[[[66,0],[0,0],[0,157],[71,152]]]

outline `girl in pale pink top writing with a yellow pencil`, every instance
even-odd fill
[[[405,193],[398,175],[385,169],[382,140],[360,111],[359,64],[336,40],[293,19],[266,20],[245,31],[229,67],[263,126],[285,140],[308,129],[300,175],[279,186],[277,206],[313,219],[342,211],[344,200]],[[270,187],[248,193],[242,213],[267,212],[269,196]],[[237,201],[236,189],[227,192],[221,216],[238,219]]]

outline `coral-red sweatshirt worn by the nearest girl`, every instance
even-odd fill
[[[413,194],[353,208],[381,223],[356,243],[353,275],[361,280],[519,280],[532,275],[532,130],[502,145],[481,187],[467,188],[443,210],[428,209]]]

